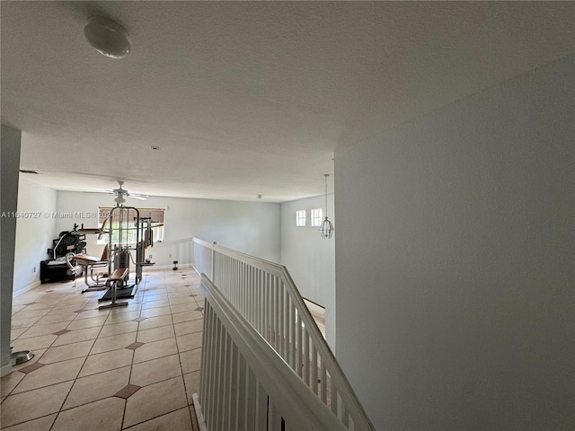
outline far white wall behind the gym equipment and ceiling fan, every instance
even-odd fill
[[[108,194],[57,192],[57,212],[65,215],[97,212],[98,207],[114,205],[113,196]],[[279,204],[150,197],[146,201],[127,200],[125,205],[168,207],[164,242],[155,242],[146,250],[146,256],[153,256],[155,268],[172,267],[173,260],[180,266],[190,264],[194,236],[261,259],[280,259]],[[55,233],[72,230],[75,223],[97,227],[97,222],[94,218],[58,218]],[[104,246],[96,244],[96,235],[86,235],[86,242],[89,254],[101,256]]]

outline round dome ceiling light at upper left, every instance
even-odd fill
[[[123,58],[130,50],[128,33],[118,22],[103,16],[91,16],[84,27],[88,43],[106,57]]]

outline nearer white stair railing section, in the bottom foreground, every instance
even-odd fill
[[[194,407],[209,430],[348,429],[206,277],[200,391]]]

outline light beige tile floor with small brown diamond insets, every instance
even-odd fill
[[[13,351],[34,357],[1,379],[1,429],[199,429],[198,274],[147,270],[128,307],[111,310],[84,287],[51,283],[14,298]]]

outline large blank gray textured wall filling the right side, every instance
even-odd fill
[[[377,429],[575,429],[574,70],[336,152],[337,354]]]

